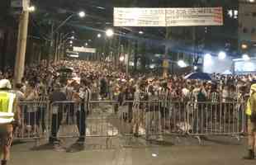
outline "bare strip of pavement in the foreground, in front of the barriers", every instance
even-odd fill
[[[69,139],[70,141],[70,139]],[[191,140],[189,140],[191,141]],[[88,142],[89,143],[89,142]],[[12,147],[12,165],[253,165],[244,161],[243,142],[220,143],[206,141],[204,145],[175,144],[145,146],[142,148],[89,148],[76,153],[54,151],[51,148],[33,150],[33,144],[16,144]]]

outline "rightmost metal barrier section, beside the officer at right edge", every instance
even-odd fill
[[[194,102],[187,120],[191,135],[237,135],[245,130],[244,103]]]

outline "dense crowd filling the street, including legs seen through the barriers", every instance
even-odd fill
[[[0,72],[0,79],[13,81],[12,69],[6,68]],[[170,102],[182,103],[185,106],[189,104],[193,106],[195,102],[197,106],[198,102],[211,102],[211,108],[217,109],[225,103],[222,107],[228,105],[234,108],[230,104],[236,102],[236,105],[244,105],[248,100],[250,86],[255,80],[256,76],[253,74],[234,76],[213,73],[211,81],[186,79],[185,74],[168,75],[166,78],[153,74],[127,75],[111,63],[60,60],[50,64],[41,61],[40,64],[26,66],[24,77],[21,83],[14,84],[13,92],[17,94],[20,102],[36,101],[40,104],[40,106],[25,104],[22,107],[25,122],[22,125],[28,133],[37,133],[39,129],[42,129],[42,132],[46,130],[44,102],[50,101],[54,105],[49,140],[51,144],[57,145],[59,145],[57,134],[65,111],[63,110],[65,107],[59,106],[58,101],[71,101],[68,103],[69,113],[76,115],[77,118],[76,124],[79,130],[77,142],[83,144],[86,136],[86,116],[90,109],[89,101],[116,101],[117,104],[114,106],[116,113],[123,111],[121,108],[127,106],[127,112],[122,114],[121,118],[130,123],[131,134],[139,136],[139,128],[145,123],[146,139],[151,138],[150,131],[154,128],[158,139],[162,140],[161,133],[172,126],[170,122],[163,122],[170,121],[174,116],[169,114],[169,109],[175,106],[175,103],[170,105]],[[151,101],[151,103],[143,103],[143,101]],[[178,111],[185,109],[185,106],[180,106]],[[200,115],[204,114],[206,108],[206,106],[197,107],[197,117],[194,117],[190,123],[192,127],[198,124],[205,125],[206,121]],[[69,117],[66,120],[69,120]],[[220,122],[220,119],[216,120]],[[198,126],[193,130],[197,133],[202,131],[198,130]]]

